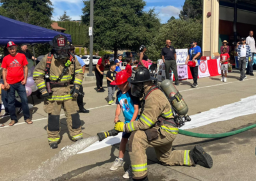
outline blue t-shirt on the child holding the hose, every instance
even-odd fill
[[[131,89],[125,94],[122,94],[122,91],[118,91],[116,93],[116,105],[121,106],[124,114],[124,123],[126,124],[131,122],[134,113],[134,105],[140,105],[140,100],[139,98],[132,96]],[[138,120],[138,118],[139,115],[136,120]]]

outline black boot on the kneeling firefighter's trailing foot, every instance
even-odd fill
[[[212,157],[199,145],[196,145],[195,148],[189,152],[189,157],[195,164],[199,164],[206,168],[212,168]]]

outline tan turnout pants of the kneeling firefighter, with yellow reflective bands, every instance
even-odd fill
[[[154,128],[152,128],[154,129]],[[163,130],[161,130],[162,132]],[[156,156],[161,163],[169,166],[192,166],[193,163],[189,157],[190,150],[173,150],[172,142],[177,134],[167,133],[158,134],[151,141],[145,131],[134,131],[129,138],[129,156],[132,166],[132,177],[141,179],[147,176],[147,154],[148,147],[154,147]],[[154,136],[155,137],[155,136]]]

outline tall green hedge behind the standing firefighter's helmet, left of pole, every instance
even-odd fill
[[[65,33],[70,34],[72,38],[72,44],[82,46],[89,44],[88,26],[79,22],[58,22],[60,27],[66,29]],[[88,42],[88,43],[86,43]]]

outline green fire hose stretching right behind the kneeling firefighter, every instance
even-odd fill
[[[224,138],[227,136],[232,136],[234,134],[242,133],[244,131],[248,131],[249,129],[253,129],[256,127],[256,124],[253,124],[252,126],[244,127],[242,129],[238,129],[236,131],[231,131],[228,133],[219,133],[219,134],[202,134],[202,133],[193,133],[190,131],[185,131],[182,129],[179,129],[179,134],[183,134],[186,136],[196,137],[196,138]]]

